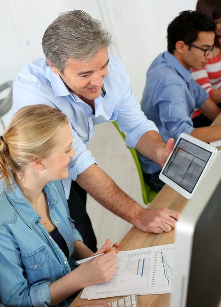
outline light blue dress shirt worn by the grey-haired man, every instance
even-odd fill
[[[121,60],[112,54],[109,57],[109,71],[104,78],[103,91],[94,101],[95,115],[87,103],[69,92],[60,76],[46,65],[45,57],[24,65],[13,84],[14,104],[10,118],[19,108],[30,104],[47,104],[68,116],[72,128],[72,147],[76,151],[68,168],[72,180],[96,163],[85,146],[94,134],[94,125],[116,120],[126,134],[126,145],[131,148],[136,147],[146,131],[158,131],[141,111]]]

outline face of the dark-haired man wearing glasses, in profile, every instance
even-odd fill
[[[203,49],[209,49],[214,45],[214,38],[214,32],[200,32],[198,39],[193,41],[192,44]],[[203,50],[197,49],[195,47],[191,47],[189,49],[187,45],[182,55],[182,59],[187,69],[191,67],[197,70],[202,69],[211,58],[212,52],[210,52],[208,56],[205,56]]]

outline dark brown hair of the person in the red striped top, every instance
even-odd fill
[[[197,8],[198,12],[206,14],[213,20],[221,17],[221,1],[220,0],[198,0]],[[221,48],[220,38],[215,37],[215,46]]]

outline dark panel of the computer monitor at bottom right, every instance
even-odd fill
[[[186,307],[217,307],[221,298],[221,181],[193,235]]]

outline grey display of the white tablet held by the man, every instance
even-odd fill
[[[211,155],[212,152],[180,138],[162,173],[192,193]]]

